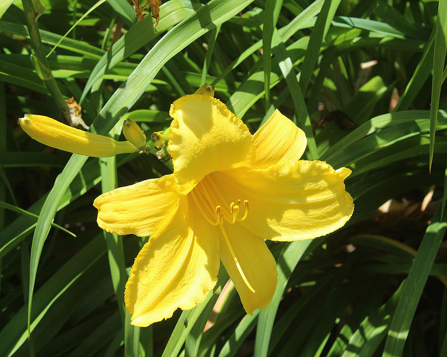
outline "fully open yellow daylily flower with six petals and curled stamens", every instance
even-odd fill
[[[151,236],[130,272],[132,324],[148,326],[204,301],[223,262],[243,307],[266,307],[277,283],[264,239],[310,239],[353,212],[344,179],[322,161],[299,160],[304,133],[278,110],[254,134],[218,99],[186,95],[170,108],[174,173],[99,196],[98,225]]]

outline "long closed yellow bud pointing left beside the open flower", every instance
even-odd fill
[[[43,115],[28,115],[18,123],[31,138],[60,150],[93,157],[108,157],[135,152],[129,142],[117,142],[112,138],[84,132]]]

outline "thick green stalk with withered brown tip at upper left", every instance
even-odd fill
[[[36,4],[36,6],[34,4]],[[34,52],[34,54],[31,55],[31,62],[33,63],[37,74],[47,86],[48,91],[55,100],[59,109],[65,116],[67,116],[69,107],[62,96],[61,89],[59,88],[56,79],[53,77],[53,73],[51,72],[40,38],[39,26],[37,25],[37,19],[44,12],[45,8],[40,1],[35,1],[34,4],[32,0],[22,0],[23,11],[25,12],[26,17],[26,25],[29,32],[29,43]],[[37,8],[37,4],[41,7]]]

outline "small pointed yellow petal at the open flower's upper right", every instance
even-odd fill
[[[307,139],[294,122],[277,109],[253,135],[255,168],[265,168],[279,162],[296,162],[304,153]]]

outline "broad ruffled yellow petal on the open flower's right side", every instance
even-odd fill
[[[342,227],[354,204],[343,180],[351,173],[335,171],[322,161],[299,160],[266,169],[214,173],[223,205],[248,200],[240,224],[266,239],[291,241],[319,237]]]

